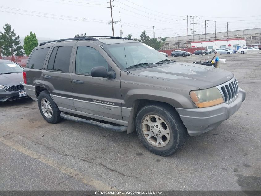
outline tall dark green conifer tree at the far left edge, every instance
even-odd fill
[[[16,36],[15,30],[11,30],[10,24],[5,24],[4,32],[0,32],[2,40],[2,55],[3,56],[22,56],[24,53],[22,51],[23,46],[19,45],[21,42],[19,40],[20,36]]]

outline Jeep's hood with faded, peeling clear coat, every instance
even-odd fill
[[[175,86],[179,83],[200,89],[220,85],[234,77],[233,73],[223,69],[183,62],[174,62],[129,72],[134,75],[173,81]]]

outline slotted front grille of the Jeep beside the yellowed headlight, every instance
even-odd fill
[[[217,86],[217,88],[221,92],[225,103],[229,104],[238,96],[238,81],[235,77],[232,80]]]

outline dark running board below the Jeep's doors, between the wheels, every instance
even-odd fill
[[[66,120],[72,120],[72,121],[79,122],[79,123],[92,124],[92,125],[106,128],[106,129],[116,131],[116,132],[127,131],[126,126],[115,126],[115,125],[111,125],[111,124],[100,123],[100,122],[96,122],[93,120],[87,120],[87,119],[83,119],[83,118],[79,118],[79,117],[75,117],[75,116],[70,116],[70,115],[65,114],[65,112],[61,112],[60,116],[61,116],[61,118],[64,118]]]

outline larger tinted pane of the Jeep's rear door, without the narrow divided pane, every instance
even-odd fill
[[[54,71],[69,72],[72,49],[73,46],[58,47],[53,65]]]

